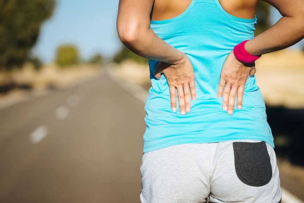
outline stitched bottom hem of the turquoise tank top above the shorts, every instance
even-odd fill
[[[169,147],[172,145],[179,145],[179,144],[211,143],[211,142],[224,142],[224,141],[230,141],[230,140],[244,140],[244,139],[265,141],[269,145],[271,145],[273,148],[275,148],[273,139],[270,139],[269,136],[264,136],[261,134],[253,134],[253,133],[240,133],[240,134],[220,136],[220,137],[172,139],[172,140],[169,140],[166,142],[161,142],[158,144],[146,146],[143,148],[143,153],[154,151],[157,149],[162,149],[162,148]]]

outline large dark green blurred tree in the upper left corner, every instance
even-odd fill
[[[0,69],[21,67],[55,0],[0,0]]]

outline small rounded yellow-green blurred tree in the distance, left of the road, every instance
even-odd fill
[[[56,50],[56,63],[61,67],[78,64],[78,49],[74,45],[64,44]]]

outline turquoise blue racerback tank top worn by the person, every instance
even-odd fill
[[[254,19],[227,13],[218,0],[192,0],[180,15],[166,20],[151,20],[150,28],[166,43],[184,52],[195,74],[196,100],[191,110],[181,115],[170,104],[165,76],[154,77],[158,61],[149,60],[150,80],[145,103],[147,124],[143,135],[143,153],[185,143],[210,143],[229,140],[261,140],[274,146],[266,120],[265,103],[256,76],[245,85],[242,109],[232,115],[222,109],[223,97],[217,98],[221,69],[236,44],[254,37]]]

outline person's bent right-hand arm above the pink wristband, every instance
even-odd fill
[[[278,51],[290,47],[304,37],[304,3],[300,1],[286,2],[284,4],[267,0],[283,15],[275,25],[263,33],[247,41],[245,50],[255,56]]]

